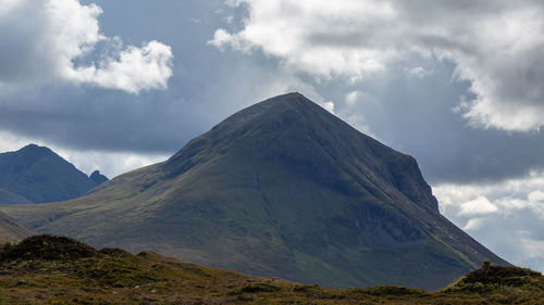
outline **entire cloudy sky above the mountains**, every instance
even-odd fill
[[[0,152],[160,162],[298,91],[415,156],[441,212],[544,271],[540,0],[0,0]]]

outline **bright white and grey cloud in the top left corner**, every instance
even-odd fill
[[[0,8],[3,86],[60,79],[131,93],[168,87],[171,48],[153,40],[122,49],[119,37],[100,31],[102,10],[96,4],[0,0]],[[102,52],[97,56],[98,46]]]

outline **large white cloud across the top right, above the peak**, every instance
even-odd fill
[[[544,125],[542,1],[237,0],[239,30],[219,28],[209,43],[262,51],[320,79],[351,80],[410,54],[449,60],[474,98],[461,114],[474,127],[512,131]],[[423,71],[412,69],[416,75]]]

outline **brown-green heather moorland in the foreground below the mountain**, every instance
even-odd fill
[[[3,304],[543,304],[544,277],[486,266],[426,292],[401,287],[329,289],[251,277],[166,258],[100,251],[78,241],[34,236],[0,255]]]

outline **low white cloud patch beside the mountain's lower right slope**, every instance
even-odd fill
[[[544,171],[495,183],[433,186],[441,213],[512,264],[544,270]]]

